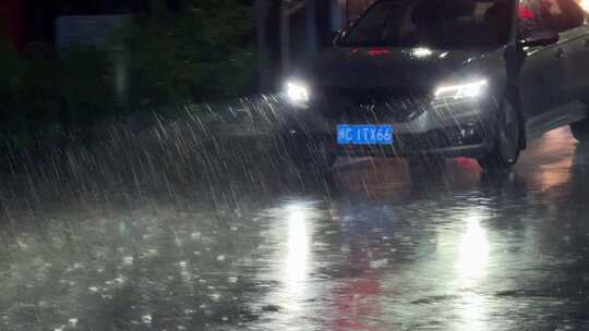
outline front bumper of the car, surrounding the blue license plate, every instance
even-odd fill
[[[290,134],[326,139],[340,156],[407,157],[444,156],[479,157],[489,152],[496,137],[498,106],[493,100],[432,102],[419,115],[405,122],[387,121],[386,117],[362,122],[342,122],[325,117],[313,107],[289,107],[285,121]],[[392,124],[392,145],[337,145],[337,124]]]

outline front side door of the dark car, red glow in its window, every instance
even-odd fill
[[[524,48],[520,97],[528,128],[533,134],[568,124],[576,118],[569,106],[578,94],[577,41],[582,36],[582,11],[575,0],[522,0],[519,9],[520,36],[536,32],[558,33],[557,42]],[[574,5],[572,5],[573,3]],[[586,79],[586,78],[585,78]]]

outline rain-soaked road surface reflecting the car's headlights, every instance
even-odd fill
[[[348,161],[229,205],[4,204],[0,330],[589,330],[589,146],[568,130],[504,177]]]

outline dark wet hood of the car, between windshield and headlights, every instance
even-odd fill
[[[433,88],[464,76],[485,75],[501,65],[502,53],[342,47],[323,52],[309,76],[317,87]]]

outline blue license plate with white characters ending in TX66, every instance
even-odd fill
[[[337,125],[337,144],[339,145],[390,145],[393,144],[393,125],[362,124]]]

